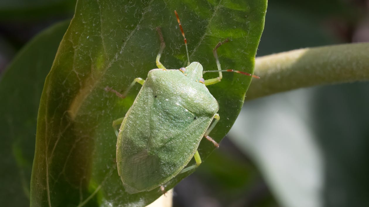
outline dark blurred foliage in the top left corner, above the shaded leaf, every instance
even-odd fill
[[[0,75],[32,37],[55,22],[70,19],[76,0],[0,1]]]

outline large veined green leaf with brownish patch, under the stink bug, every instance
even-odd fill
[[[127,194],[116,170],[111,124],[127,112],[139,86],[125,99],[104,88],[124,90],[156,68],[158,26],[166,43],[165,67],[187,63],[174,10],[182,20],[190,61],[216,69],[212,50],[230,38],[218,50],[223,68],[253,72],[266,1],[78,1],[41,97],[31,206],[144,206],[162,194],[160,189]],[[222,82],[209,86],[220,106],[221,120],[210,134],[216,141],[235,121],[250,82],[249,76],[225,73]],[[213,149],[203,140],[200,156],[208,157]],[[166,188],[189,174],[178,175]]]

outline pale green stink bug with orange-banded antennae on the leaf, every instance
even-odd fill
[[[136,82],[142,85],[125,117],[113,122],[117,135],[118,174],[128,193],[149,191],[159,186],[164,191],[162,186],[177,174],[199,166],[201,158],[197,148],[201,139],[205,137],[218,147],[208,135],[220,119],[219,106],[206,85],[220,82],[222,71],[251,75],[221,70],[217,48],[228,39],[218,43],[213,50],[218,70],[203,71],[200,63],[190,63],[187,40],[176,11],[175,14],[186,45],[188,66],[166,69],[160,63],[165,42],[157,28],[161,40],[156,57],[158,69],[149,71],[146,80],[136,78],[123,94],[106,88],[124,98]],[[204,80],[204,72],[219,72],[219,76]],[[186,167],[192,157],[196,164]]]

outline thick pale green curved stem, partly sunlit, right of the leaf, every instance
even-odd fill
[[[246,100],[309,86],[368,81],[369,43],[292,50],[255,58]]]

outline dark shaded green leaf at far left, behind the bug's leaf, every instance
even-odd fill
[[[0,203],[28,206],[42,86],[69,21],[41,32],[14,58],[0,82]]]

